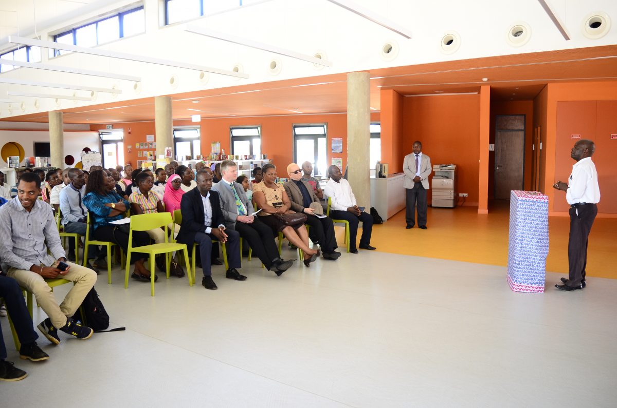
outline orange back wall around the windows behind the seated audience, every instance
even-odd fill
[[[371,121],[379,121],[379,113],[371,113]],[[231,153],[230,127],[259,125],[262,127],[262,153],[281,169],[287,167],[293,160],[292,126],[294,124],[328,124],[328,164],[331,159],[342,158],[343,168],[347,164],[347,115],[289,115],[289,116],[259,116],[252,118],[202,119],[201,123],[201,154],[209,155],[212,142],[220,142],[225,153]],[[195,125],[189,120],[173,121],[174,126]],[[104,129],[104,125],[93,125],[91,130]],[[146,141],[147,134],[155,134],[154,121],[114,124],[114,128],[125,130],[125,161],[137,163],[138,156],[135,144]],[[131,134],[128,134],[131,128]],[[331,153],[330,139],[342,137],[343,152]],[[131,153],[128,153],[131,146]],[[367,152],[368,154],[368,152]],[[141,159],[143,160],[143,159]],[[283,174],[280,174],[284,176]]]

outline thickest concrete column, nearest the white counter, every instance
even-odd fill
[[[347,74],[347,172],[358,206],[371,208],[371,106],[368,72]],[[344,169],[343,169],[344,170]]]

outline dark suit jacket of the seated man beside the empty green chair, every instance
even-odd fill
[[[204,225],[204,202],[201,200],[199,189],[195,188],[184,193],[180,202],[180,211],[182,213],[182,225],[178,232],[177,240],[186,245],[193,245],[195,242],[195,234],[203,232],[205,234]],[[220,200],[218,193],[210,190],[210,205],[212,206],[212,228],[220,225],[225,225],[225,219],[221,211]]]

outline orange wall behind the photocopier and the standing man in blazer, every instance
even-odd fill
[[[403,99],[400,156],[411,153],[413,142],[419,140],[433,165],[457,165],[457,190],[469,194],[467,205],[478,205],[479,117],[479,95]]]

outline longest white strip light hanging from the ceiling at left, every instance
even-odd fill
[[[17,36],[9,36],[8,42],[12,44],[22,44],[24,46],[42,47],[50,49],[61,49],[64,51],[81,52],[82,54],[99,55],[100,57],[117,58],[122,60],[130,60],[137,62],[154,63],[157,65],[165,65],[167,67],[186,68],[187,70],[207,71],[220,75],[235,76],[236,78],[249,78],[248,74],[233,72],[228,70],[220,70],[218,68],[204,67],[193,63],[176,62],[153,57],[144,57],[143,55],[128,54],[126,52],[107,51],[104,49],[80,47],[72,44],[54,43],[54,41],[43,41],[41,39],[23,38]]]

